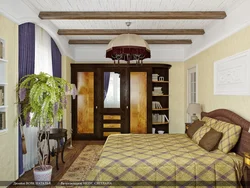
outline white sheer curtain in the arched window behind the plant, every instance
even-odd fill
[[[39,26],[35,26],[35,68],[34,73],[45,72],[52,75],[51,37]],[[37,163],[38,127],[24,126],[27,154],[23,155],[24,171],[32,169]],[[50,140],[50,151],[56,148],[56,141]]]

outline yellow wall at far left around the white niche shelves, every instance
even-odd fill
[[[15,86],[18,80],[18,25],[0,15],[0,38],[6,45],[7,129],[0,133],[0,181],[17,178],[17,117]]]

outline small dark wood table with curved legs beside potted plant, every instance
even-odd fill
[[[63,138],[65,138],[65,141],[64,141],[63,147],[61,149],[60,148],[60,141]],[[57,141],[56,169],[59,170],[59,167],[58,167],[58,155],[59,155],[60,150],[61,150],[61,159],[62,159],[62,162],[65,163],[64,160],[63,160],[63,154],[64,154],[65,145],[66,145],[66,142],[67,142],[67,129],[61,129],[61,128],[59,128],[59,129],[58,128],[52,128],[52,129],[50,129],[49,139]],[[48,140],[48,148],[50,148],[49,140]],[[49,155],[48,163],[50,163],[50,155]]]

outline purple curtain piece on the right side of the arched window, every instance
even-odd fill
[[[52,55],[53,76],[61,78],[62,55],[55,41],[52,38],[51,38],[51,55]]]

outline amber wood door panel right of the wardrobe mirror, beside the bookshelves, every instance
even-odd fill
[[[130,132],[147,133],[147,72],[130,72]]]

